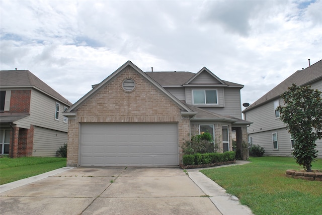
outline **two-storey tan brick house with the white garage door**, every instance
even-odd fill
[[[177,166],[191,135],[209,132],[219,151],[247,142],[240,89],[207,68],[143,72],[126,62],[75,102],[68,117],[67,166]],[[248,154],[244,155],[245,157]]]

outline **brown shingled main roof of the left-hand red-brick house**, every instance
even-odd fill
[[[70,106],[72,103],[40,80],[29,70],[3,70],[0,71],[0,87],[2,88],[35,88],[58,101]]]

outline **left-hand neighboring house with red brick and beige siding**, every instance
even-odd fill
[[[0,148],[10,157],[56,156],[71,103],[28,70],[0,71]]]

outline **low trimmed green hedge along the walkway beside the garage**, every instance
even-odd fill
[[[224,153],[196,153],[193,155],[183,155],[182,161],[184,165],[200,165],[200,164],[211,164],[220,163],[226,161],[235,160],[235,152],[224,152]]]

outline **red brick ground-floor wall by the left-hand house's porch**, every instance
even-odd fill
[[[18,157],[31,157],[34,142],[34,126],[30,129],[19,129]]]

